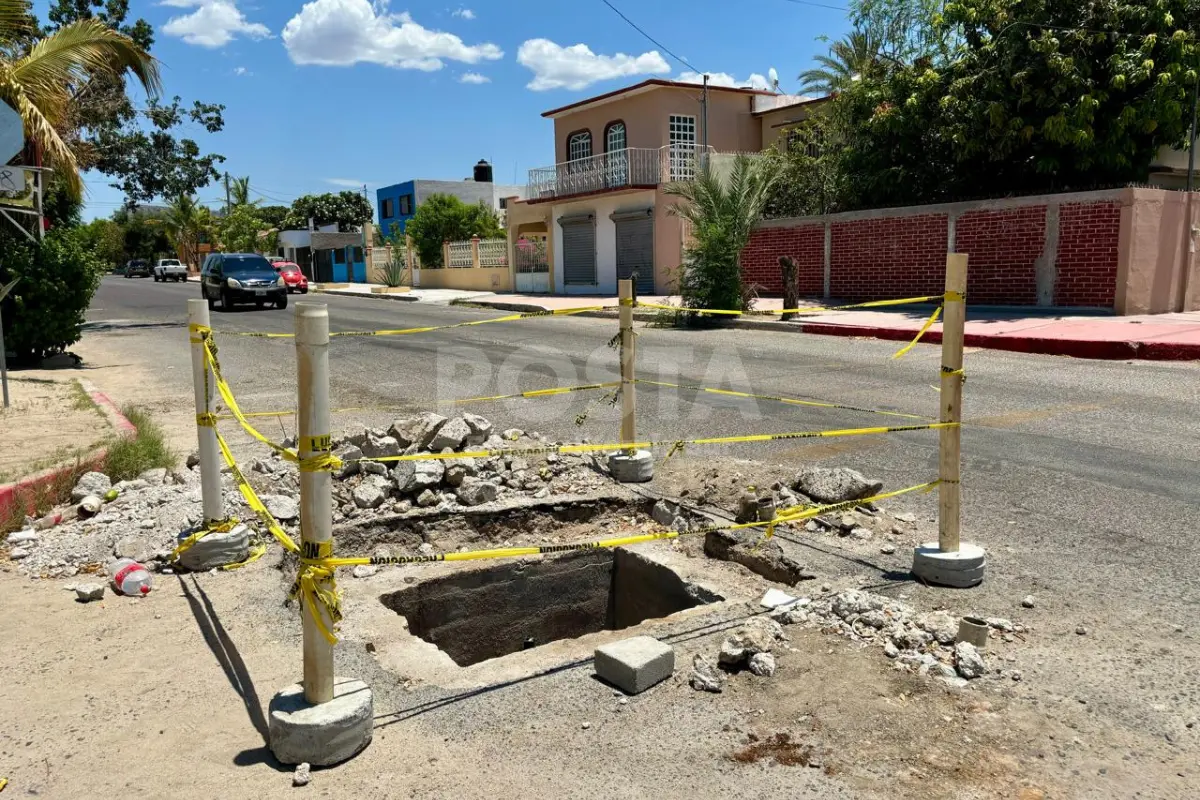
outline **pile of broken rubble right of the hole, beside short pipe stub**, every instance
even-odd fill
[[[979,648],[958,640],[959,621],[946,612],[922,613],[906,603],[854,589],[818,600],[790,597],[772,590],[763,599],[763,604],[774,606],[768,616],[749,620],[721,644],[716,658],[721,670],[748,668],[756,675],[773,675],[776,644],[787,640],[784,626],[803,625],[854,642],[880,645],[898,669],[932,675],[950,686],[961,688],[988,674],[1021,680],[1020,670],[989,668]],[[985,621],[992,633],[1006,642],[1012,642],[1014,634],[1026,630],[1007,619],[988,618]],[[721,670],[709,658],[697,655],[692,664],[692,687],[720,692],[726,680]]]

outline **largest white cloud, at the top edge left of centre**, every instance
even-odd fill
[[[360,61],[433,72],[443,59],[479,64],[504,55],[490,42],[464,44],[454,34],[424,28],[407,12],[378,11],[367,0],[313,0],[283,26],[283,44],[295,64],[349,66]]]

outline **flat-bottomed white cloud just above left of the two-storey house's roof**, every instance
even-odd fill
[[[547,38],[530,38],[517,50],[517,61],[533,70],[528,88],[587,89],[599,80],[671,72],[658,50],[641,55],[596,55],[587,44],[563,47]]]

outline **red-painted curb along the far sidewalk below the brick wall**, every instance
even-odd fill
[[[858,336],[863,338],[910,342],[916,331],[870,325],[838,325],[834,323],[803,323],[804,333],[818,336]],[[1061,355],[1073,359],[1121,361],[1141,359],[1146,361],[1194,361],[1200,360],[1200,344],[1180,342],[1121,342],[1114,339],[1060,339],[1038,336],[996,336],[991,333],[967,333],[964,344],[988,350],[1030,353],[1034,355]],[[940,331],[929,331],[922,342],[938,344]]]

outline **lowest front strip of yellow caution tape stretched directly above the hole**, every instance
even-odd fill
[[[928,483],[918,483],[917,486],[910,486],[904,489],[896,489],[894,492],[884,492],[882,494],[876,494],[869,498],[862,498],[859,500],[847,500],[845,503],[834,503],[829,505],[818,505],[812,507],[805,506],[793,506],[785,511],[779,512],[774,519],[767,522],[745,522],[734,525],[706,525],[702,528],[692,528],[691,530],[680,534],[676,530],[661,530],[650,534],[641,534],[637,536],[620,536],[616,539],[601,539],[590,542],[576,542],[574,545],[533,545],[529,547],[498,547],[484,551],[467,551],[466,553],[438,553],[436,555],[373,555],[373,557],[360,557],[360,558],[323,558],[323,559],[311,559],[305,561],[306,566],[318,567],[324,570],[334,570],[336,567],[346,566],[359,566],[359,565],[376,565],[376,566],[390,566],[390,565],[403,565],[403,564],[430,564],[433,561],[479,561],[485,559],[504,559],[504,558],[518,558],[522,555],[552,555],[556,553],[571,553],[576,551],[596,551],[611,547],[625,547],[629,545],[641,545],[643,542],[653,542],[664,539],[678,539],[679,536],[696,536],[702,534],[709,534],[718,530],[744,530],[748,528],[767,528],[769,533],[774,533],[776,525],[792,524],[796,522],[802,522],[804,519],[810,519],[812,517],[820,517],[827,513],[834,513],[838,511],[845,511],[848,509],[856,509],[868,503],[875,503],[877,500],[887,500],[890,498],[900,497],[901,494],[908,494],[910,492],[930,492],[935,486],[941,483],[941,481],[929,481]],[[293,589],[295,585],[293,584]]]

